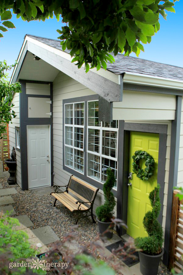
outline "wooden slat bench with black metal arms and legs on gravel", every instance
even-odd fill
[[[91,216],[93,223],[95,223],[93,218],[93,204],[99,189],[82,182],[74,176],[70,177],[68,185],[53,186],[56,187],[56,189],[55,192],[52,192],[50,195],[55,197],[54,206],[56,201],[59,200],[71,212],[77,212],[78,217],[76,224],[80,218],[88,216]],[[66,190],[61,191],[59,187],[66,187]],[[75,196],[79,200],[76,199]]]

